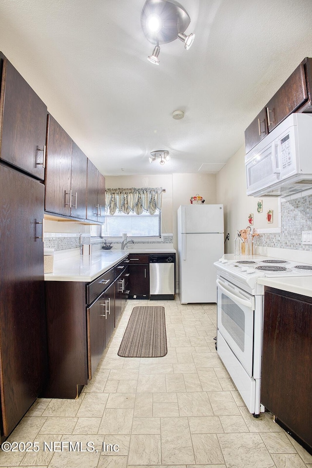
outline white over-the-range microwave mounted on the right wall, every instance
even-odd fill
[[[312,188],[312,114],[291,114],[245,156],[247,195]]]

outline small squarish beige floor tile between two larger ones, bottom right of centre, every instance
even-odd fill
[[[224,463],[224,458],[216,434],[192,434],[195,463]]]

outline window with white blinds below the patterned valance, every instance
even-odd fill
[[[105,215],[102,226],[92,226],[91,235],[101,237],[121,237],[127,233],[131,237],[160,237],[161,212],[156,210],[154,215],[148,212],[136,215],[130,213],[115,213]]]

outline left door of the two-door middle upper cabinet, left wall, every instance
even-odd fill
[[[45,171],[45,211],[70,215],[72,139],[48,116]]]

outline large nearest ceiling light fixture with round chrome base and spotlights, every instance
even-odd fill
[[[190,24],[187,11],[176,0],[146,0],[141,13],[141,26],[147,40],[156,44],[148,59],[159,65],[159,44],[180,39],[185,49],[193,44],[195,34],[184,34]]]

